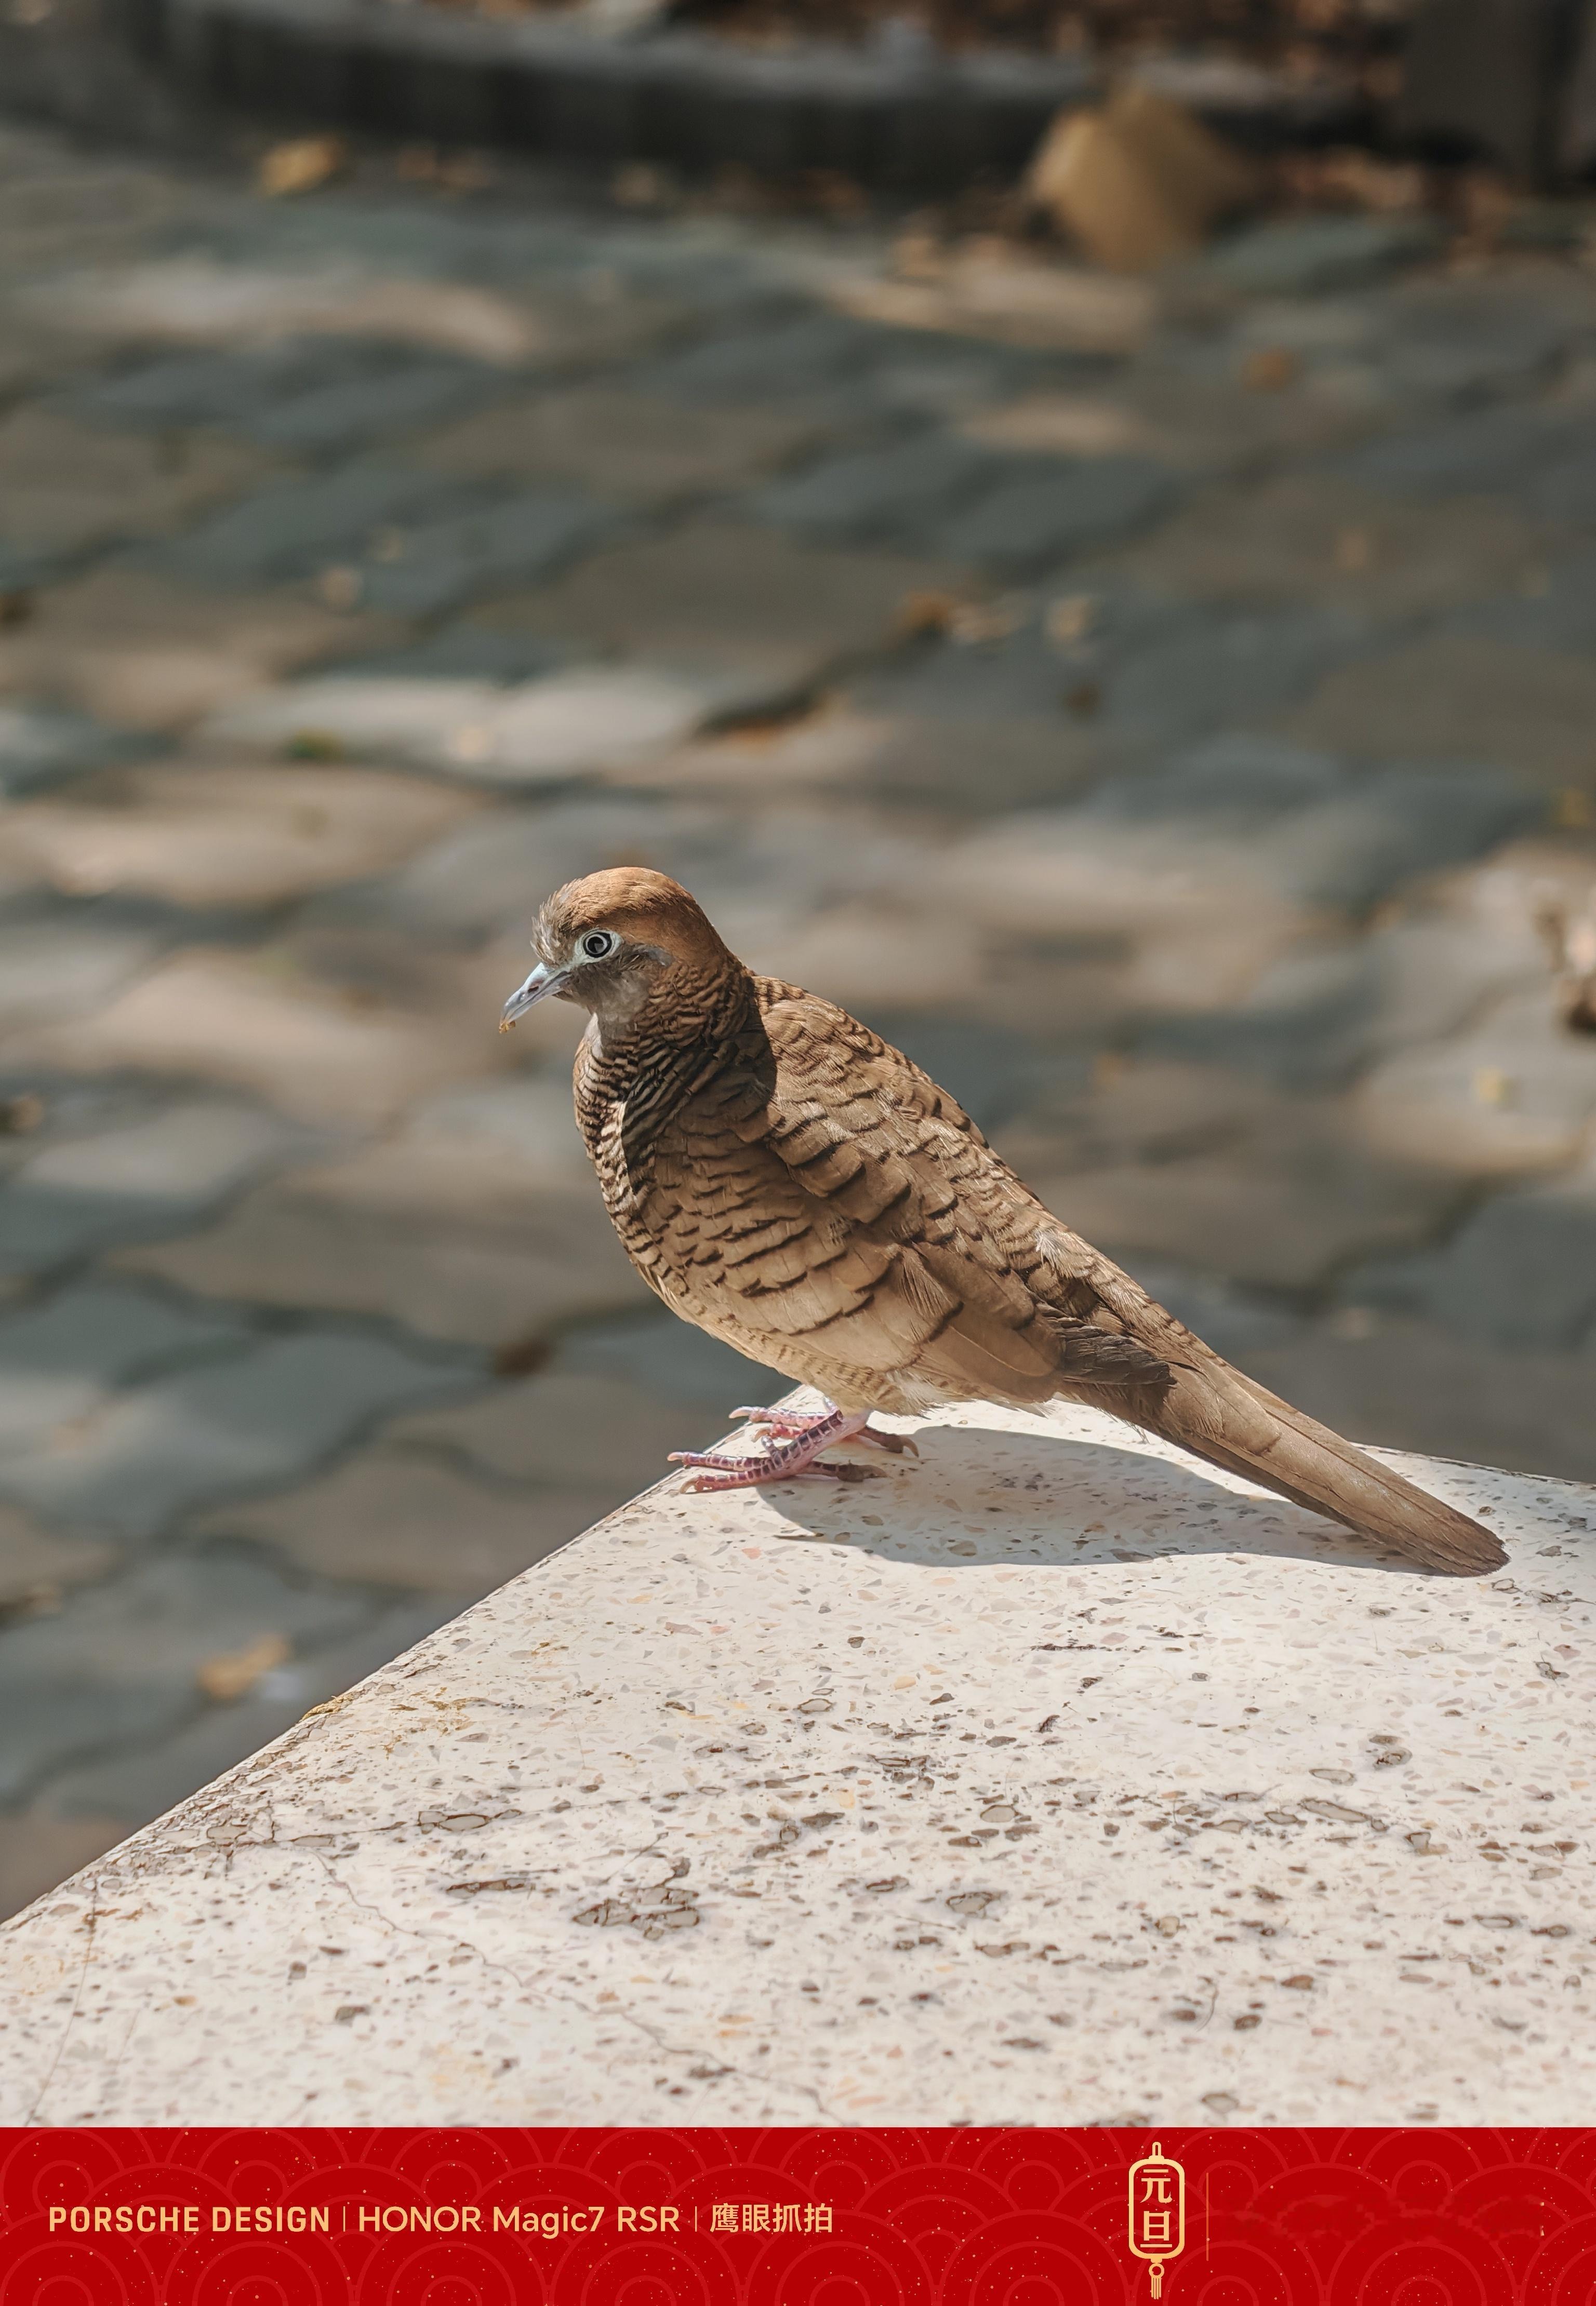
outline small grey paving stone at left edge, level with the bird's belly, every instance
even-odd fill
[[[189,1308],[125,1282],[76,1282],[0,1321],[0,1453],[71,1439],[83,1418],[138,1379],[221,1361],[254,1342],[235,1312]]]

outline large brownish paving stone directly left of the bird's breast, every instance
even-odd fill
[[[560,1093],[570,1116],[570,1093]],[[554,1105],[554,1098],[549,1098]],[[210,1231],[129,1250],[201,1296],[376,1314],[484,1347],[634,1305],[632,1273],[565,1118],[544,1144],[447,1114],[348,1162],[247,1195]]]

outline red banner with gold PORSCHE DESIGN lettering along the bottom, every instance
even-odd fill
[[[1596,2131],[0,2131],[0,2306],[1587,2306]]]

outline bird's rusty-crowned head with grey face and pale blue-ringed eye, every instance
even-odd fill
[[[537,966],[505,1001],[500,1033],[540,1001],[574,1001],[600,1031],[625,1028],[671,980],[738,969],[687,890],[634,865],[558,888],[537,915],[533,952]]]

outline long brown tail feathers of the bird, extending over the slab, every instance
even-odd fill
[[[1218,1354],[1176,1367],[1169,1391],[1137,1416],[1195,1457],[1382,1538],[1425,1568],[1481,1577],[1506,1561],[1495,1531],[1365,1457],[1328,1425],[1315,1425]]]

